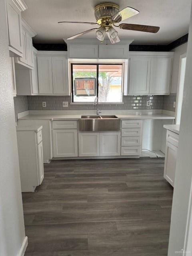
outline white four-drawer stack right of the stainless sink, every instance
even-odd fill
[[[122,120],[121,155],[139,156],[141,154],[141,120]]]

